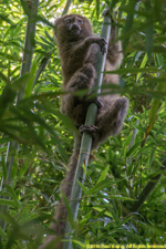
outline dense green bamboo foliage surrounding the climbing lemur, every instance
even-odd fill
[[[2,249],[42,242],[73,146],[73,126],[59,111],[61,61],[52,32],[66,1],[39,1],[32,66],[23,74],[30,2],[0,2]],[[164,245],[166,2],[75,0],[69,12],[90,18],[100,33],[106,2],[118,9],[124,51],[118,91],[129,98],[129,110],[122,133],[110,137],[89,164],[74,245]]]

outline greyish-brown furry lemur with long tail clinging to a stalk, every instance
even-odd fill
[[[111,18],[112,20],[112,18]],[[112,22],[114,22],[112,20]],[[86,111],[90,104],[87,94],[85,96],[75,96],[79,90],[90,90],[93,87],[96,71],[96,53],[101,48],[102,53],[106,52],[106,42],[103,38],[97,38],[92,31],[89,19],[80,14],[66,14],[55,21],[54,29],[55,41],[62,63],[63,90],[68,92],[62,96],[62,113],[66,114],[77,128],[93,133],[92,149],[104,142],[110,135],[116,135],[121,132],[126,115],[128,101],[126,97],[120,97],[118,94],[103,95],[101,98],[93,100],[97,103],[98,112],[94,126],[82,126],[85,121]],[[122,61],[121,41],[114,43],[115,23],[112,25],[112,32],[107,49],[105,71],[116,70]],[[118,75],[105,74],[103,84],[118,84]],[[73,178],[76,167],[79,147],[74,147],[69,170],[65,179],[61,184],[61,193],[70,199]],[[66,210],[63,201],[56,206],[54,222],[51,228],[55,230],[55,236],[49,236],[45,243],[40,247],[43,249],[56,237],[63,238],[66,220]],[[60,241],[54,249],[61,249]]]

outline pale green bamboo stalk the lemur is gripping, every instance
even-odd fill
[[[110,17],[105,15],[104,21],[103,21],[101,37],[106,40],[107,44],[108,44],[110,33],[111,33],[110,23],[111,23]],[[98,74],[97,74],[97,79],[95,82],[96,94],[101,93],[105,60],[106,60],[106,53],[104,55],[102,55],[101,50],[98,49],[97,64],[96,64],[96,72]],[[97,106],[96,106],[96,104],[92,103],[87,110],[85,125],[94,125],[96,114],[97,114]],[[80,156],[79,156],[79,160],[77,160],[74,183],[73,183],[73,187],[72,187],[71,200],[70,200],[70,208],[72,211],[74,221],[76,220],[76,217],[77,217],[80,198],[82,195],[82,188],[80,187],[77,180],[80,180],[82,184],[84,184],[85,174],[84,174],[82,166],[85,165],[85,167],[87,167],[90,153],[91,153],[91,146],[92,146],[92,136],[87,133],[84,133],[82,136]],[[71,227],[70,222],[68,222],[66,228],[65,228],[66,236],[64,238],[63,249],[72,249],[71,232],[72,232],[72,227]]]

